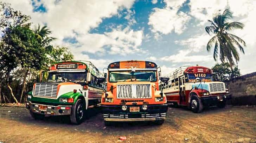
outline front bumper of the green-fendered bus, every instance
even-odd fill
[[[40,110],[39,106],[46,106],[45,110]],[[51,106],[51,105],[43,105],[32,103],[31,101],[26,102],[26,108],[31,110],[34,113],[44,114],[44,115],[70,115],[72,106],[70,105],[58,105],[58,106]]]

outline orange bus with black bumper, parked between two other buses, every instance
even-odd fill
[[[111,121],[155,121],[166,119],[166,96],[159,90],[160,70],[153,62],[120,61],[110,63],[107,91],[102,95],[102,114],[105,125]]]

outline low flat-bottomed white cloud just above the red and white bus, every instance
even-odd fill
[[[168,61],[173,63],[182,63],[182,62],[209,62],[212,60],[212,56],[210,55],[193,55],[191,50],[180,50],[178,53],[165,56],[160,58],[161,61]]]

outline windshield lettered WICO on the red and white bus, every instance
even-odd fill
[[[186,82],[196,82],[196,78],[200,78],[203,82],[215,81],[216,76],[212,73],[188,73]]]

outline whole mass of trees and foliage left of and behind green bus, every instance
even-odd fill
[[[56,38],[50,36],[52,32],[47,26],[31,29],[30,16],[15,11],[9,4],[0,2],[0,16],[0,91],[4,89],[7,96],[11,91],[12,98],[17,102],[15,96],[20,97],[21,102],[40,71],[54,62],[72,60],[73,55],[66,47],[52,46]]]

